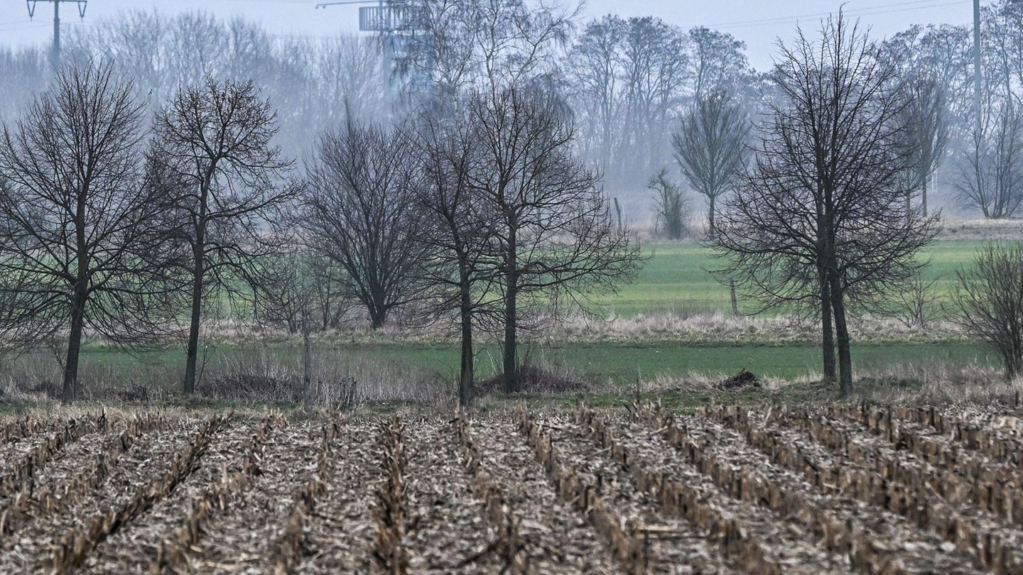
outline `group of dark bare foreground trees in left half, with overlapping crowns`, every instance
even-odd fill
[[[349,118],[304,175],[251,81],[182,86],[150,122],[136,92],[113,65],[69,64],[0,141],[0,330],[16,347],[62,339],[65,401],[90,337],[183,335],[192,393],[204,319],[242,299],[307,329],[347,301],[374,328],[396,310],[451,319],[469,403],[474,330],[501,334],[516,391],[518,335],[638,265],[542,86],[468,92],[457,116]]]

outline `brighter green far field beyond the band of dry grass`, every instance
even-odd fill
[[[984,245],[983,240],[945,239],[923,251],[921,259],[929,262],[924,275],[937,280],[934,288],[939,300],[947,301],[955,285],[955,270],[969,265]],[[710,249],[692,242],[650,244],[643,252],[649,259],[636,281],[622,286],[618,294],[594,297],[598,308],[618,316],[730,311],[728,288],[710,273],[726,267],[727,260],[716,259]]]

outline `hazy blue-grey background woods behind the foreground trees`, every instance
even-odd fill
[[[623,197],[635,196],[661,169],[704,194],[675,162],[672,142],[683,120],[723,93],[757,123],[780,96],[772,71],[754,71],[745,45],[719,31],[653,16],[581,21],[576,9],[527,0],[393,4],[417,15],[396,20],[386,37],[275,37],[240,18],[135,11],[72,31],[64,51],[116,60],[150,109],[206,76],[254,80],[278,110],[277,138],[292,157],[306,151],[304,126],[343,122],[346,105],[359,118],[395,119],[425,98],[452,105],[451,96],[498,78],[544,79],[571,109],[580,157]],[[916,197],[926,205],[937,173],[963,205],[1005,218],[1023,202],[1023,7],[993,2],[981,21],[979,115],[969,27],[915,26],[878,47],[898,82],[915,85],[917,104],[905,113],[920,116],[922,137],[935,133],[920,162],[934,169],[926,177],[904,174],[917,181]],[[10,118],[16,102],[43,88],[46,65],[41,48],[0,50],[0,76],[11,80],[0,86],[0,117]]]

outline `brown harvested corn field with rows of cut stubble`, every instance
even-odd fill
[[[0,572],[1023,573],[1023,419],[0,417]]]

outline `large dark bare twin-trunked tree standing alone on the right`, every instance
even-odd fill
[[[785,97],[712,237],[751,297],[819,311],[825,374],[834,377],[837,342],[843,395],[852,390],[848,305],[876,305],[911,277],[937,231],[936,218],[905,210],[898,185],[905,159],[894,119],[904,99],[893,74],[841,13],[819,41],[800,32],[783,45],[773,79]]]

